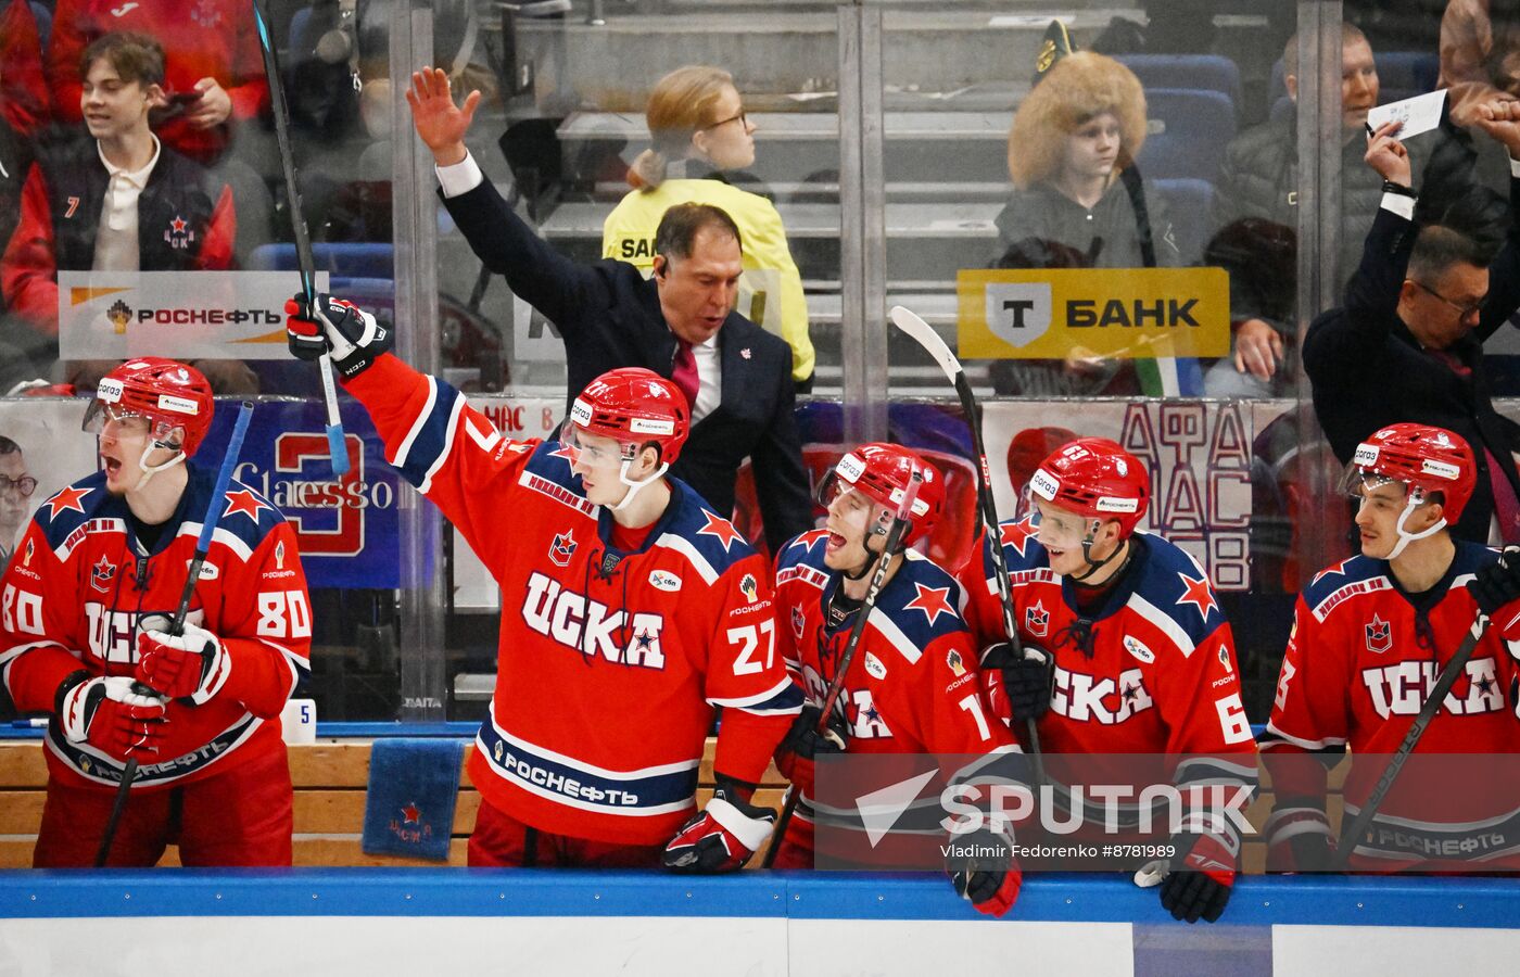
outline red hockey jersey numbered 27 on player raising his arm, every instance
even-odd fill
[[[386,459],[502,588],[497,682],[470,778],[518,820],[625,845],[695,808],[713,708],[714,769],[758,783],[801,710],[775,646],[763,558],[670,479],[637,552],[611,544],[556,442],[508,441],[462,394],[382,356],[348,381]]]

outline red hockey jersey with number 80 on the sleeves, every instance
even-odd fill
[[[179,504],[147,552],[126,500],[96,473],[38,511],[0,580],[0,667],[23,713],[53,710],[59,682],[132,675],[138,620],[172,615],[195,559],[216,471],[188,465]],[[269,501],[240,482],[226,492],[188,620],[222,640],[233,669],[205,705],[169,704],[157,763],[138,767],[132,790],[211,776],[284,751],[280,711],[309,672],[312,611],[295,533]],[[47,729],[47,767],[71,784],[114,786],[123,764],[88,743]]]

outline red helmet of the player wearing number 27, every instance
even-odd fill
[[[570,406],[570,421],[625,445],[654,442],[660,445],[660,460],[670,465],[681,456],[692,412],[675,383],[652,369],[623,366],[587,384]]]

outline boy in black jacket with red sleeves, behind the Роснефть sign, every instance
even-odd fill
[[[79,62],[81,112],[93,138],[38,146],[21,219],[0,258],[6,305],[56,359],[59,270],[225,269],[233,193],[160,144],[149,111],[164,99],[164,52],[141,33],[99,38]]]

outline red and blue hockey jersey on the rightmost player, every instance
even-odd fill
[[[1477,603],[1465,583],[1494,559],[1487,547],[1458,542],[1446,576],[1411,596],[1388,561],[1354,556],[1300,594],[1262,737],[1278,799],[1269,843],[1330,831],[1327,769],[1347,748],[1345,813],[1360,810],[1473,626]],[[1491,628],[1379,807],[1351,868],[1520,865],[1517,679],[1515,649]]]

